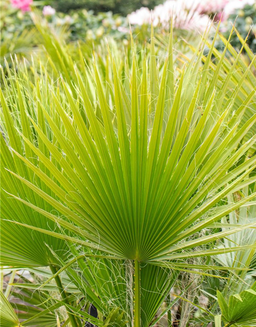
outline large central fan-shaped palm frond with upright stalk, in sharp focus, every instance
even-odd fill
[[[58,226],[52,231],[19,219],[15,228],[22,225],[91,248],[95,255],[100,253],[100,257],[121,264],[133,262],[134,316],[126,314],[126,319],[135,327],[153,323],[177,272],[211,269],[185,263],[187,258],[237,251],[236,246],[205,245],[255,227],[252,222],[203,232],[255,197],[251,193],[225,203],[230,194],[256,180],[256,157],[240,162],[256,142],[252,135],[243,143],[256,115],[238,127],[247,106],[255,101],[251,88],[243,103],[235,106],[250,67],[230,95],[229,75],[221,81],[222,87],[218,69],[209,79],[210,57],[201,71],[204,41],[199,49],[179,78],[172,37],[161,70],[153,37],[150,55],[141,66],[134,53],[125,82],[110,52],[112,82],[108,86],[96,61],[92,68],[87,67],[92,83],[76,66],[72,88],[63,78],[61,85],[37,83],[26,98],[20,96],[16,101],[20,106],[26,99],[27,107],[20,110],[19,132],[14,128],[9,100],[2,95],[6,174],[27,190],[23,196],[19,192],[13,195],[19,201],[6,197],[5,203],[26,204]],[[219,67],[223,60],[224,55]],[[230,69],[230,74],[236,71]],[[15,87],[23,88],[19,80]],[[95,101],[90,97],[92,88]],[[36,114],[31,114],[34,103]],[[8,130],[9,124],[12,128]],[[15,148],[17,139],[24,142],[25,152]],[[9,157],[29,173],[14,170]],[[253,247],[255,244],[243,248]]]

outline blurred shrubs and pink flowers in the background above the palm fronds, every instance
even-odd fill
[[[27,6],[25,9],[22,7],[24,4]],[[91,48],[99,44],[102,38],[110,37],[128,45],[129,22],[135,41],[145,44],[151,37],[151,19],[157,42],[166,43],[172,16],[174,37],[179,41],[179,46],[184,48],[184,39],[190,45],[195,45],[209,19],[217,23],[223,12],[221,33],[227,38],[232,23],[236,21],[241,37],[246,38],[249,33],[247,44],[253,53],[256,52],[255,0],[223,0],[215,3],[209,0],[1,0],[0,11],[2,65],[5,65],[4,58],[8,60],[10,55],[28,58],[31,53],[40,51],[42,40],[31,18],[33,11],[39,12],[47,28],[66,42],[71,44],[79,41]],[[217,40],[216,44],[222,50],[222,42]],[[231,37],[231,44],[240,49],[241,42],[236,33]]]

